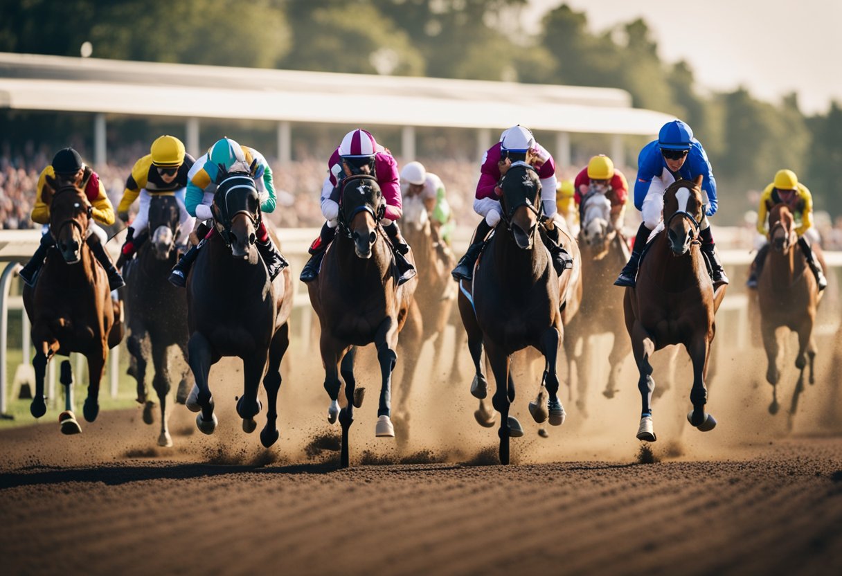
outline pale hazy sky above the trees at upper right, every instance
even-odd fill
[[[527,23],[564,3],[530,0]],[[807,113],[842,103],[842,0],[566,0],[590,29],[642,17],[663,61],[686,60],[701,88],[743,85],[776,102],[796,91]]]

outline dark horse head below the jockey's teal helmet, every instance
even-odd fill
[[[262,214],[254,179],[248,172],[229,172],[221,179],[214,194],[211,211],[217,232],[231,248],[234,258],[258,264],[254,243]]]

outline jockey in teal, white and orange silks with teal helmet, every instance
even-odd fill
[[[210,236],[213,230],[204,225],[204,221],[211,220],[213,214],[210,212],[210,205],[213,204],[216,186],[225,178],[229,172],[247,172],[254,179],[254,187],[260,197],[260,211],[267,214],[274,211],[275,195],[274,184],[272,184],[272,168],[266,162],[263,154],[245,146],[240,146],[231,138],[223,137],[216,141],[208,152],[193,164],[187,173],[187,193],[184,198],[184,205],[190,216],[196,216],[197,223],[191,235],[191,242],[195,245],[190,248],[179,260],[179,264],[173,267],[169,275],[169,281],[176,286],[183,287],[187,284],[187,275],[190,266],[199,255],[199,249],[204,243],[201,239]],[[280,271],[289,265],[286,259],[275,248],[269,232],[266,232],[266,225],[261,220],[260,226],[255,231],[260,258],[266,264],[269,271],[269,280],[274,280]]]

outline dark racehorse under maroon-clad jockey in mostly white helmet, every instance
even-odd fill
[[[564,422],[556,363],[563,333],[560,295],[567,291],[570,274],[565,271],[559,279],[538,231],[541,182],[536,171],[509,168],[500,186],[503,218],[475,264],[472,285],[460,282],[459,309],[477,372],[472,394],[482,398],[487,393],[483,346],[494,374],[497,389],[492,402],[501,415],[499,458],[508,464],[509,437],[523,435],[520,423],[509,416],[514,352],[533,346],[544,355],[538,399],[530,403],[532,418],[538,423],[549,419],[552,425]]]

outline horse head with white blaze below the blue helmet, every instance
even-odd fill
[[[669,248],[676,256],[690,250],[699,236],[704,205],[701,200],[700,175],[695,180],[676,180],[663,193],[663,221]]]

